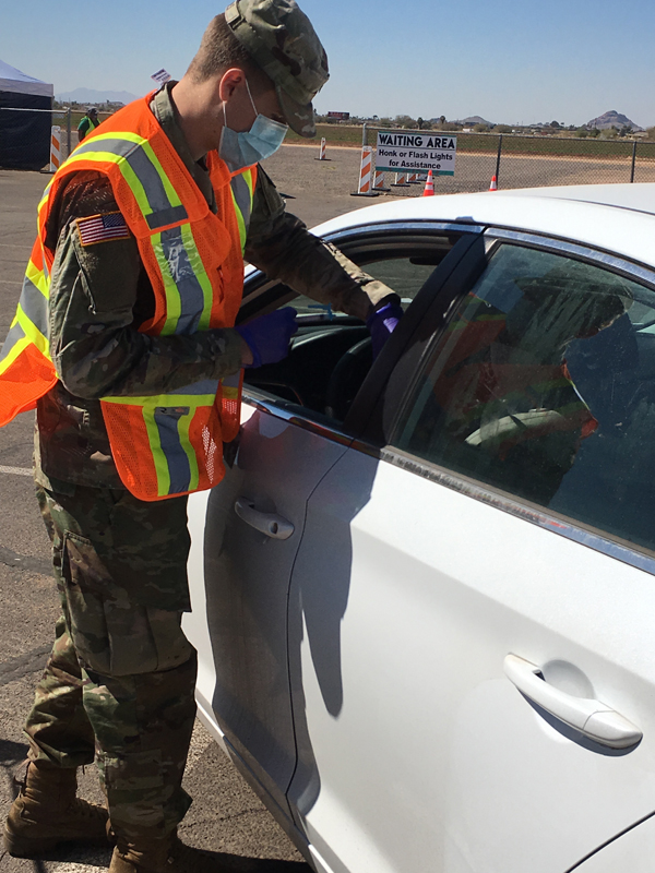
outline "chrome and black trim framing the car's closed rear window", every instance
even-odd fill
[[[505,230],[498,227],[487,227],[483,232],[483,239],[485,240],[489,259],[492,256],[498,246],[503,242],[517,243],[527,248],[550,251],[557,254],[571,256],[574,260],[582,260],[596,266],[602,266],[655,290],[654,267],[628,261],[627,259],[619,258],[603,250],[595,250],[591,247],[580,246],[563,239],[543,237],[531,232]],[[471,256],[464,259],[464,266],[469,259]],[[475,272],[472,272],[468,280],[466,283],[461,283],[458,295],[452,299],[449,309],[442,313],[442,325],[446,323],[450,308],[468,294],[475,280]],[[430,315],[433,322],[433,311],[430,312]],[[398,398],[398,392],[390,391],[389,385],[394,380],[394,375],[397,378],[398,373],[401,373],[400,381],[403,381],[402,373],[403,371],[406,372],[407,362],[412,360],[412,355],[407,354],[407,349],[410,349],[412,346],[420,339],[418,331],[415,331],[409,343],[405,347],[405,354],[396,361],[394,370],[388,381],[388,388],[379,398],[378,414],[377,416],[372,416],[370,420],[372,422],[384,420],[382,429],[384,432],[384,440],[376,439],[377,434],[374,428],[372,432],[371,429],[368,428],[367,432],[354,442],[353,449],[378,457],[380,461],[391,463],[394,466],[402,467],[416,476],[434,481],[438,485],[457,491],[458,493],[465,494],[487,505],[495,506],[502,512],[523,518],[545,530],[550,530],[552,534],[562,536],[586,548],[594,549],[602,554],[615,558],[621,563],[655,576],[655,550],[653,549],[640,547],[621,537],[614,536],[609,531],[586,526],[583,522],[573,519],[570,516],[560,515],[557,512],[549,511],[547,507],[538,506],[527,500],[522,500],[515,494],[496,489],[493,486],[489,486],[486,482],[479,482],[474,478],[468,478],[454,470],[449,470],[445,467],[441,467],[425,458],[410,455],[391,445],[391,440],[400,432],[402,415],[407,408],[414,387],[417,381],[420,380],[421,374],[425,373],[425,368],[430,357],[430,350],[434,347],[434,344],[439,342],[441,335],[441,330],[439,330],[440,325],[436,323],[434,326],[437,330],[433,332],[430,342],[427,344],[424,343],[420,359],[417,360],[416,356],[414,356],[414,360],[418,366],[410,373],[410,384],[407,384],[405,381],[405,396]],[[394,394],[396,396],[394,396]],[[390,405],[392,409],[389,408]],[[378,434],[380,434],[379,431]],[[389,440],[386,439],[386,434],[389,434]],[[385,444],[382,445],[382,443]]]

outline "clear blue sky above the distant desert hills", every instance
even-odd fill
[[[655,124],[653,0],[300,0],[332,77],[320,112]],[[3,0],[0,58],[55,84],[145,94],[186,70],[223,4]]]

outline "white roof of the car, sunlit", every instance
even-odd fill
[[[439,180],[436,180],[437,188]],[[495,226],[565,239],[655,266],[655,183],[567,186],[386,200],[314,228],[386,222]]]

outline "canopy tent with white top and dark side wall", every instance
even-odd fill
[[[49,162],[55,88],[0,60],[0,167],[39,170]]]

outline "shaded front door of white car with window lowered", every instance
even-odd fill
[[[384,225],[342,234],[336,242],[366,261],[367,270],[408,306],[463,230],[468,228]],[[291,297],[288,288],[255,274],[246,288],[243,311],[257,316],[288,304]],[[317,399],[312,381],[327,379],[324,392],[333,394],[337,383],[325,362],[331,356],[341,359],[353,344],[360,347],[367,335],[356,320],[322,312],[309,300],[291,302],[302,313],[291,355],[278,366],[247,373],[242,428],[228,450],[225,479],[209,494],[190,499],[193,611],[184,620],[199,650],[201,717],[276,804],[274,812],[289,820],[286,791],[296,767],[296,737],[288,588],[307,501],[353,440],[352,430],[325,414],[325,398]],[[318,351],[308,358],[312,344]],[[346,383],[352,391],[350,380]],[[340,406],[338,400],[337,392],[331,403]]]

